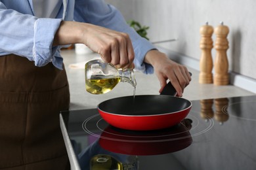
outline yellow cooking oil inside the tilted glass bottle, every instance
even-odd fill
[[[91,76],[90,79],[85,79],[85,88],[87,92],[92,94],[104,94],[110,92],[116,84],[121,81],[119,76]]]

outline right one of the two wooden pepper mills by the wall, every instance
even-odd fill
[[[226,50],[228,49],[228,35],[229,29],[226,25],[217,26],[215,28],[216,42],[216,57],[215,57],[215,76],[214,84],[215,85],[226,85],[229,83],[228,80],[228,58],[226,56]]]

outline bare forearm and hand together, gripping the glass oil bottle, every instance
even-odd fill
[[[54,45],[83,43],[100,54],[103,61],[117,68],[132,67],[135,54],[129,35],[105,27],[63,21],[54,37]]]

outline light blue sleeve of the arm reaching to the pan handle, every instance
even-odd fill
[[[128,33],[135,50],[135,69],[146,74],[154,73],[152,65],[144,63],[144,57],[149,50],[156,49],[156,47],[129,27],[115,7],[106,4],[103,0],[76,0],[74,19],[78,22],[87,22]]]

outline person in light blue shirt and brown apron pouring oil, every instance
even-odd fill
[[[74,21],[75,20],[75,21]],[[58,114],[70,102],[60,48],[83,43],[118,68],[155,71],[182,95],[186,67],[103,0],[0,1],[0,169],[68,169]]]

